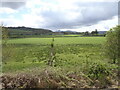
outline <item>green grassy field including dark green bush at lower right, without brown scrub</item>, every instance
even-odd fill
[[[49,69],[47,62],[51,58],[52,40],[53,38],[8,40],[9,47],[4,51],[11,52],[8,53],[11,55],[6,58],[6,64],[3,64],[4,74],[22,71],[35,74],[40,70]],[[101,83],[103,82],[101,80],[106,80],[108,77],[115,79],[118,66],[110,64],[104,56],[104,43],[105,37],[54,38],[55,55],[52,70],[55,69],[63,75],[82,72],[90,79],[99,80]]]

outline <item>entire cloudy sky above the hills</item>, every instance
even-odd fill
[[[0,0],[0,23],[53,31],[108,31],[118,25],[118,0]]]

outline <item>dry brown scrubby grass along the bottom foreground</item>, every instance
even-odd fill
[[[18,75],[3,75],[1,76],[3,88],[104,88],[101,87],[101,82],[92,81],[83,73],[69,73],[61,75],[53,73],[50,70],[43,70],[37,75],[18,74]],[[111,87],[109,82],[107,87]],[[113,85],[116,87],[116,85]]]

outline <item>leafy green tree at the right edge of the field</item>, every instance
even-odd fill
[[[120,60],[120,25],[107,32],[105,48],[108,58],[117,63]]]

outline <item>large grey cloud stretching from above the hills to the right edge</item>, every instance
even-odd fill
[[[73,12],[79,13],[79,16],[71,20],[69,20],[71,17],[66,14],[68,11],[42,11],[40,15],[46,20],[44,27],[51,29],[72,29],[91,26],[100,21],[111,19],[118,14],[117,2],[77,2],[75,4],[78,6],[78,9]]]

